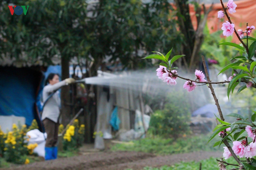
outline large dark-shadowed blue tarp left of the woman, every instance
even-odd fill
[[[26,118],[31,125],[38,118],[35,104],[42,73],[29,68],[0,67],[0,115],[15,115]],[[40,126],[40,124],[39,124]]]

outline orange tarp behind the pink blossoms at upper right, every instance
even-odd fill
[[[223,4],[226,7],[228,0],[223,0]],[[248,26],[255,26],[256,27],[256,0],[240,0],[240,1],[234,1],[234,3],[237,4],[236,12],[233,14],[230,14],[227,10],[227,13],[231,19],[231,21],[235,24],[235,29],[241,29],[245,31],[246,28],[246,22],[248,22]],[[208,9],[211,6],[211,4],[205,5],[205,7]],[[197,20],[195,16],[194,6],[189,6],[189,13],[192,19],[192,23],[194,28],[197,27]],[[219,31],[222,28],[222,24],[227,21],[227,17],[225,15],[224,18],[219,19],[217,18],[217,12],[223,11],[221,3],[217,3],[213,5],[212,11],[208,15],[207,19],[207,26],[210,30],[210,33],[213,33],[215,31]],[[253,32],[256,30],[253,30]],[[244,34],[246,35],[246,34]],[[239,40],[236,37],[236,34],[233,33],[233,41],[238,43]]]

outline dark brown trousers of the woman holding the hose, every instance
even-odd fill
[[[43,120],[43,124],[47,134],[45,147],[56,147],[58,141],[59,123],[55,123],[54,121],[45,118]]]

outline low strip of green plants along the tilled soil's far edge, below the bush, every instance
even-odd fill
[[[212,147],[217,139],[214,138],[210,143],[207,144],[208,138],[209,137],[207,135],[189,136],[178,138],[177,140],[162,137],[144,138],[125,144],[116,144],[111,148],[111,150],[138,151],[162,155],[188,153],[202,150],[219,150],[217,147]]]

